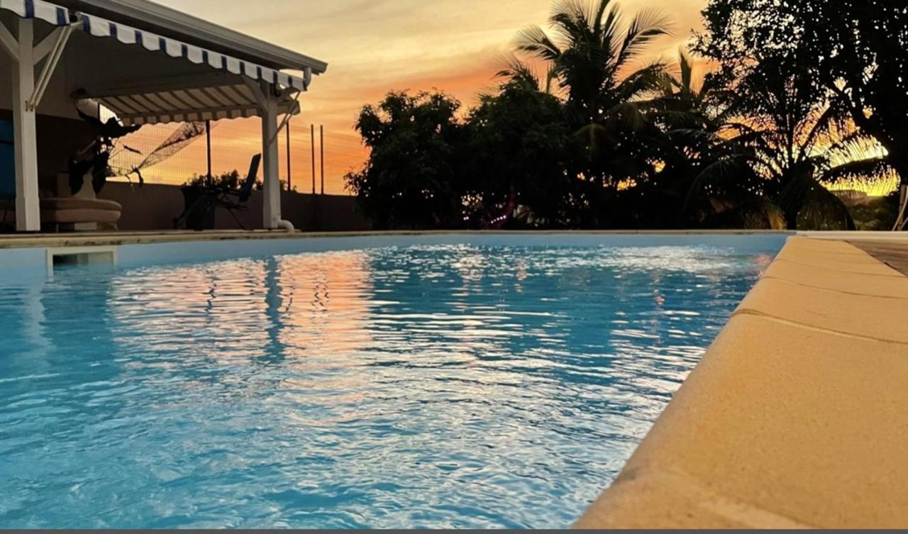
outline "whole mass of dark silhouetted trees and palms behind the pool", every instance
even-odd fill
[[[702,76],[683,52],[642,62],[663,15],[559,2],[548,30],[518,35],[543,80],[512,58],[465,113],[439,93],[364,107],[370,159],[348,185],[381,228],[851,229],[824,183],[908,178],[906,14],[711,0]]]

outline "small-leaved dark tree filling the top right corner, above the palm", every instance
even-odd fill
[[[886,162],[908,183],[908,5],[711,0],[704,18],[696,48],[722,63],[725,84],[744,79],[767,58],[797,62],[804,83],[822,88],[822,98],[834,100],[855,128],[882,143]]]

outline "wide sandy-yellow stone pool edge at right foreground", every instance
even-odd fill
[[[908,526],[908,276],[791,237],[581,529]]]

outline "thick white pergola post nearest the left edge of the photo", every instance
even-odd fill
[[[13,69],[15,143],[15,229],[41,230],[38,203],[38,143],[35,110],[25,108],[35,91],[35,29],[31,19],[19,19],[19,62]]]

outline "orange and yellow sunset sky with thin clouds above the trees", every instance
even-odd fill
[[[326,193],[343,193],[342,175],[364,160],[352,129],[363,104],[378,102],[390,90],[432,88],[474,104],[479,92],[495,84],[501,54],[512,49],[518,30],[545,25],[552,5],[551,0],[264,0],[252,9],[245,0],[158,1],[329,63],[328,73],[315,77],[303,95],[302,117],[291,130],[294,181],[308,184],[308,124],[324,124]],[[646,7],[664,10],[675,35],[653,50],[674,57],[700,27],[706,0],[618,4],[628,15]],[[260,135],[249,121],[223,123],[217,133],[236,143],[254,146]]]

